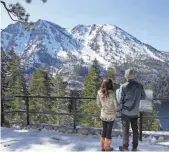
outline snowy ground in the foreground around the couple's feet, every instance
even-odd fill
[[[112,146],[118,150],[121,137],[114,137]],[[130,147],[131,148],[131,147]],[[169,151],[169,141],[158,142],[151,136],[139,143],[140,151]],[[16,130],[1,128],[1,152],[100,151],[99,137],[63,134],[47,130]]]

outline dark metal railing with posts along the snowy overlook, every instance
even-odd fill
[[[13,100],[14,98],[23,98],[25,99],[25,110],[15,110],[15,111],[5,111],[4,110],[4,103]],[[30,106],[29,106],[29,100],[33,99],[33,98],[42,98],[42,99],[71,99],[73,102],[73,109],[71,113],[59,113],[59,112],[53,112],[53,111],[32,111],[30,110]],[[98,117],[99,115],[96,114],[82,114],[79,113],[76,110],[76,101],[77,100],[96,100],[96,98],[92,98],[92,97],[55,97],[55,96],[12,96],[12,97],[1,97],[1,126],[3,126],[4,122],[5,122],[5,114],[9,114],[9,113],[26,113],[26,124],[30,125],[30,114],[48,114],[48,115],[72,115],[73,116],[73,129],[76,129],[76,117],[77,116],[93,116],[93,117]],[[66,101],[69,101],[66,100]],[[153,100],[168,100],[169,99],[160,99],[160,98],[156,98]],[[143,116],[143,113],[140,112],[140,116],[138,117],[140,120],[139,123],[139,140],[142,141],[142,131],[143,131],[143,118],[144,119],[149,119],[149,118],[154,118],[154,119],[169,119],[169,116]]]

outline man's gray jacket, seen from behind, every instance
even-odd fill
[[[144,100],[146,94],[142,84],[135,80],[124,83],[117,93],[119,115],[137,116],[139,114],[140,100]]]

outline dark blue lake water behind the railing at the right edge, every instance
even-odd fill
[[[155,104],[155,107],[157,111],[159,111],[158,116],[169,117],[169,102],[163,102],[162,104]],[[160,123],[163,130],[169,131],[169,119],[161,119]]]

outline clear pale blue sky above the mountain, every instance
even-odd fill
[[[39,18],[65,28],[78,24],[113,24],[142,42],[162,51],[169,51],[169,0],[5,0],[19,1],[30,13],[30,20]],[[12,23],[1,11],[1,27]]]

